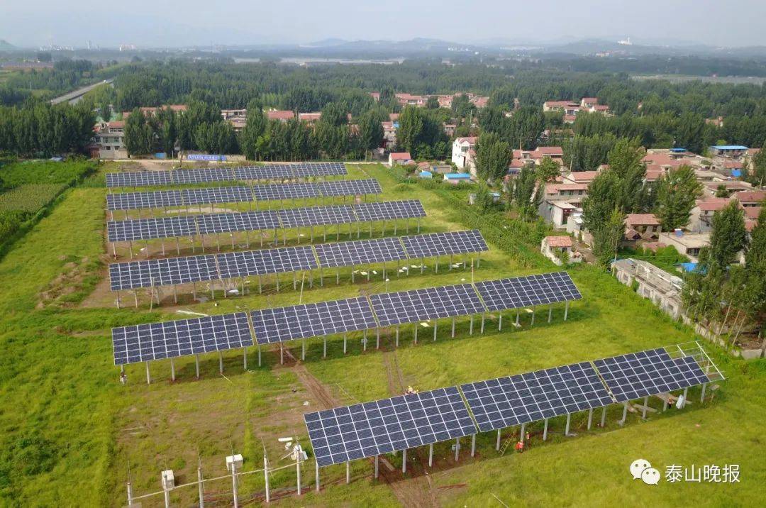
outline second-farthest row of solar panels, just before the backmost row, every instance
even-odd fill
[[[375,179],[185,188],[173,191],[107,194],[106,209],[110,211],[146,210],[218,203],[372,195],[381,192],[381,186]]]

